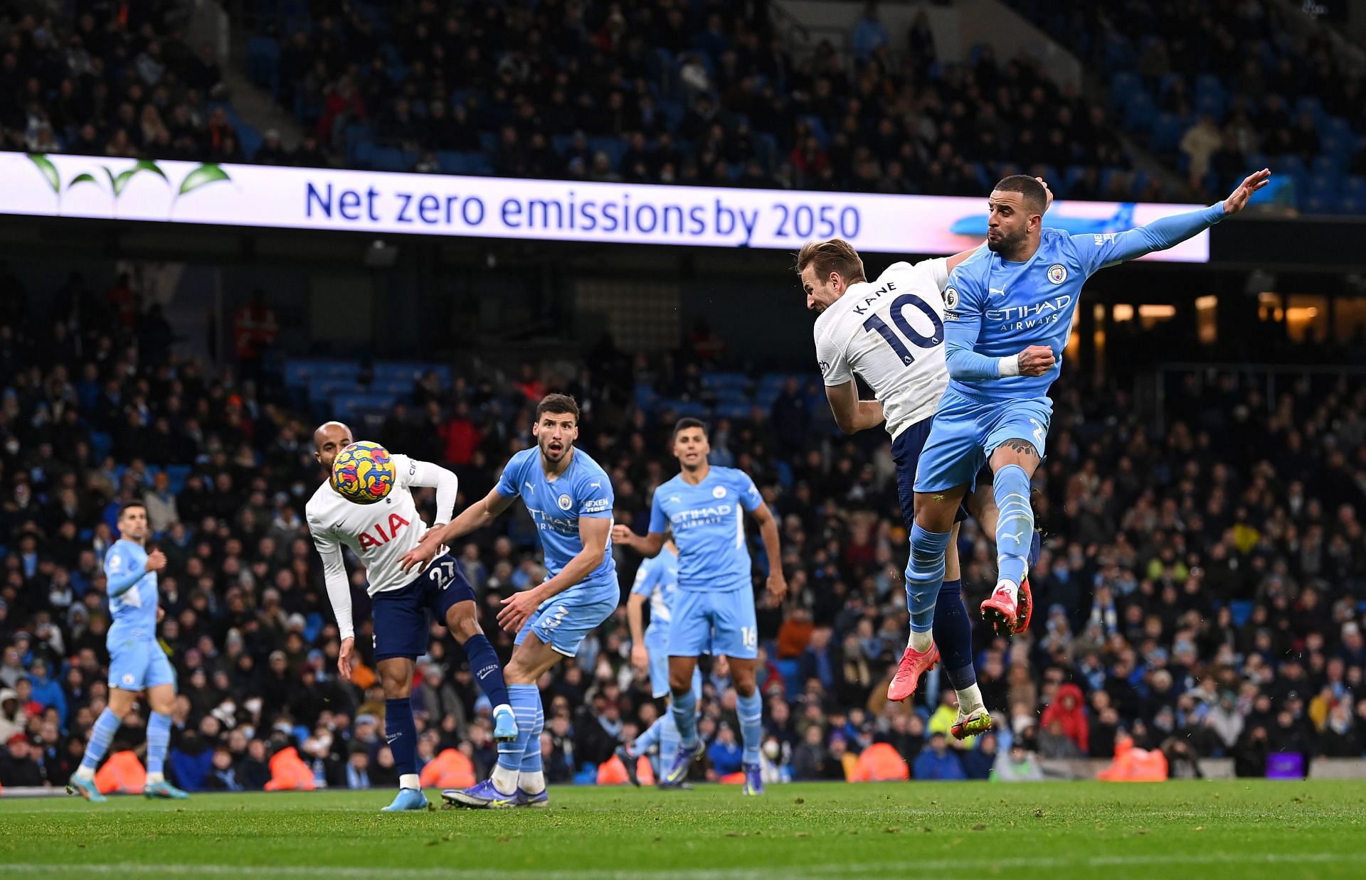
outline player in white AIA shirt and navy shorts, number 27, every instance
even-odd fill
[[[331,472],[337,453],[352,442],[351,428],[328,422],[313,432],[314,457]],[[474,604],[474,589],[449,553],[421,569],[404,572],[399,559],[418,546],[428,525],[418,516],[410,487],[436,488],[434,527],[451,521],[459,482],[455,473],[428,461],[393,456],[393,488],[384,501],[359,505],[343,498],[329,480],[313,493],[307,505],[309,532],[322,557],[328,599],[337,618],[342,651],[337,671],[351,678],[355,629],[351,621],[351,584],[342,544],[365,565],[366,592],[374,618],[374,659],[384,685],[384,731],[399,771],[399,794],[385,812],[426,809],[417,769],[417,724],[413,720],[413,666],[428,651],[428,613],[443,621],[470,659],[470,670],[493,704],[493,735],[516,738],[516,720],[508,704],[503,667],[489,644]]]

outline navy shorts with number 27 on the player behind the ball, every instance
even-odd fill
[[[451,554],[433,559],[408,585],[374,593],[374,659],[415,660],[426,654],[428,614],[445,626],[445,613],[458,602],[474,602],[474,588]]]

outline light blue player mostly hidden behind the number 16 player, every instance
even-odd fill
[[[631,666],[649,670],[650,689],[656,700],[669,696],[669,625],[673,619],[672,607],[679,595],[679,548],[673,536],[665,533],[664,553],[641,562],[635,570],[635,584],[626,600],[626,619],[631,626]],[[641,608],[650,603],[650,626],[642,628]],[[693,693],[702,696],[702,670],[693,670]],[[653,746],[660,746],[658,786],[661,789],[686,787],[686,782],[669,784],[663,776],[679,749],[679,727],[673,712],[661,712],[632,742],[617,746],[616,756],[626,767],[631,784],[641,784],[637,774],[637,760]]]

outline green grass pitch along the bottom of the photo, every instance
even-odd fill
[[[0,877],[1366,877],[1361,782],[828,783],[770,786],[754,800],[734,786],[550,797],[549,809],[402,815],[376,812],[388,791],[0,798]]]

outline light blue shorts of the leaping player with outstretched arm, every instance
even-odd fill
[[[944,392],[930,435],[921,450],[915,471],[915,491],[938,493],[955,486],[968,491],[996,448],[1009,439],[1034,445],[1045,454],[1053,401],[1048,397],[1011,397],[982,402],[952,387]]]

